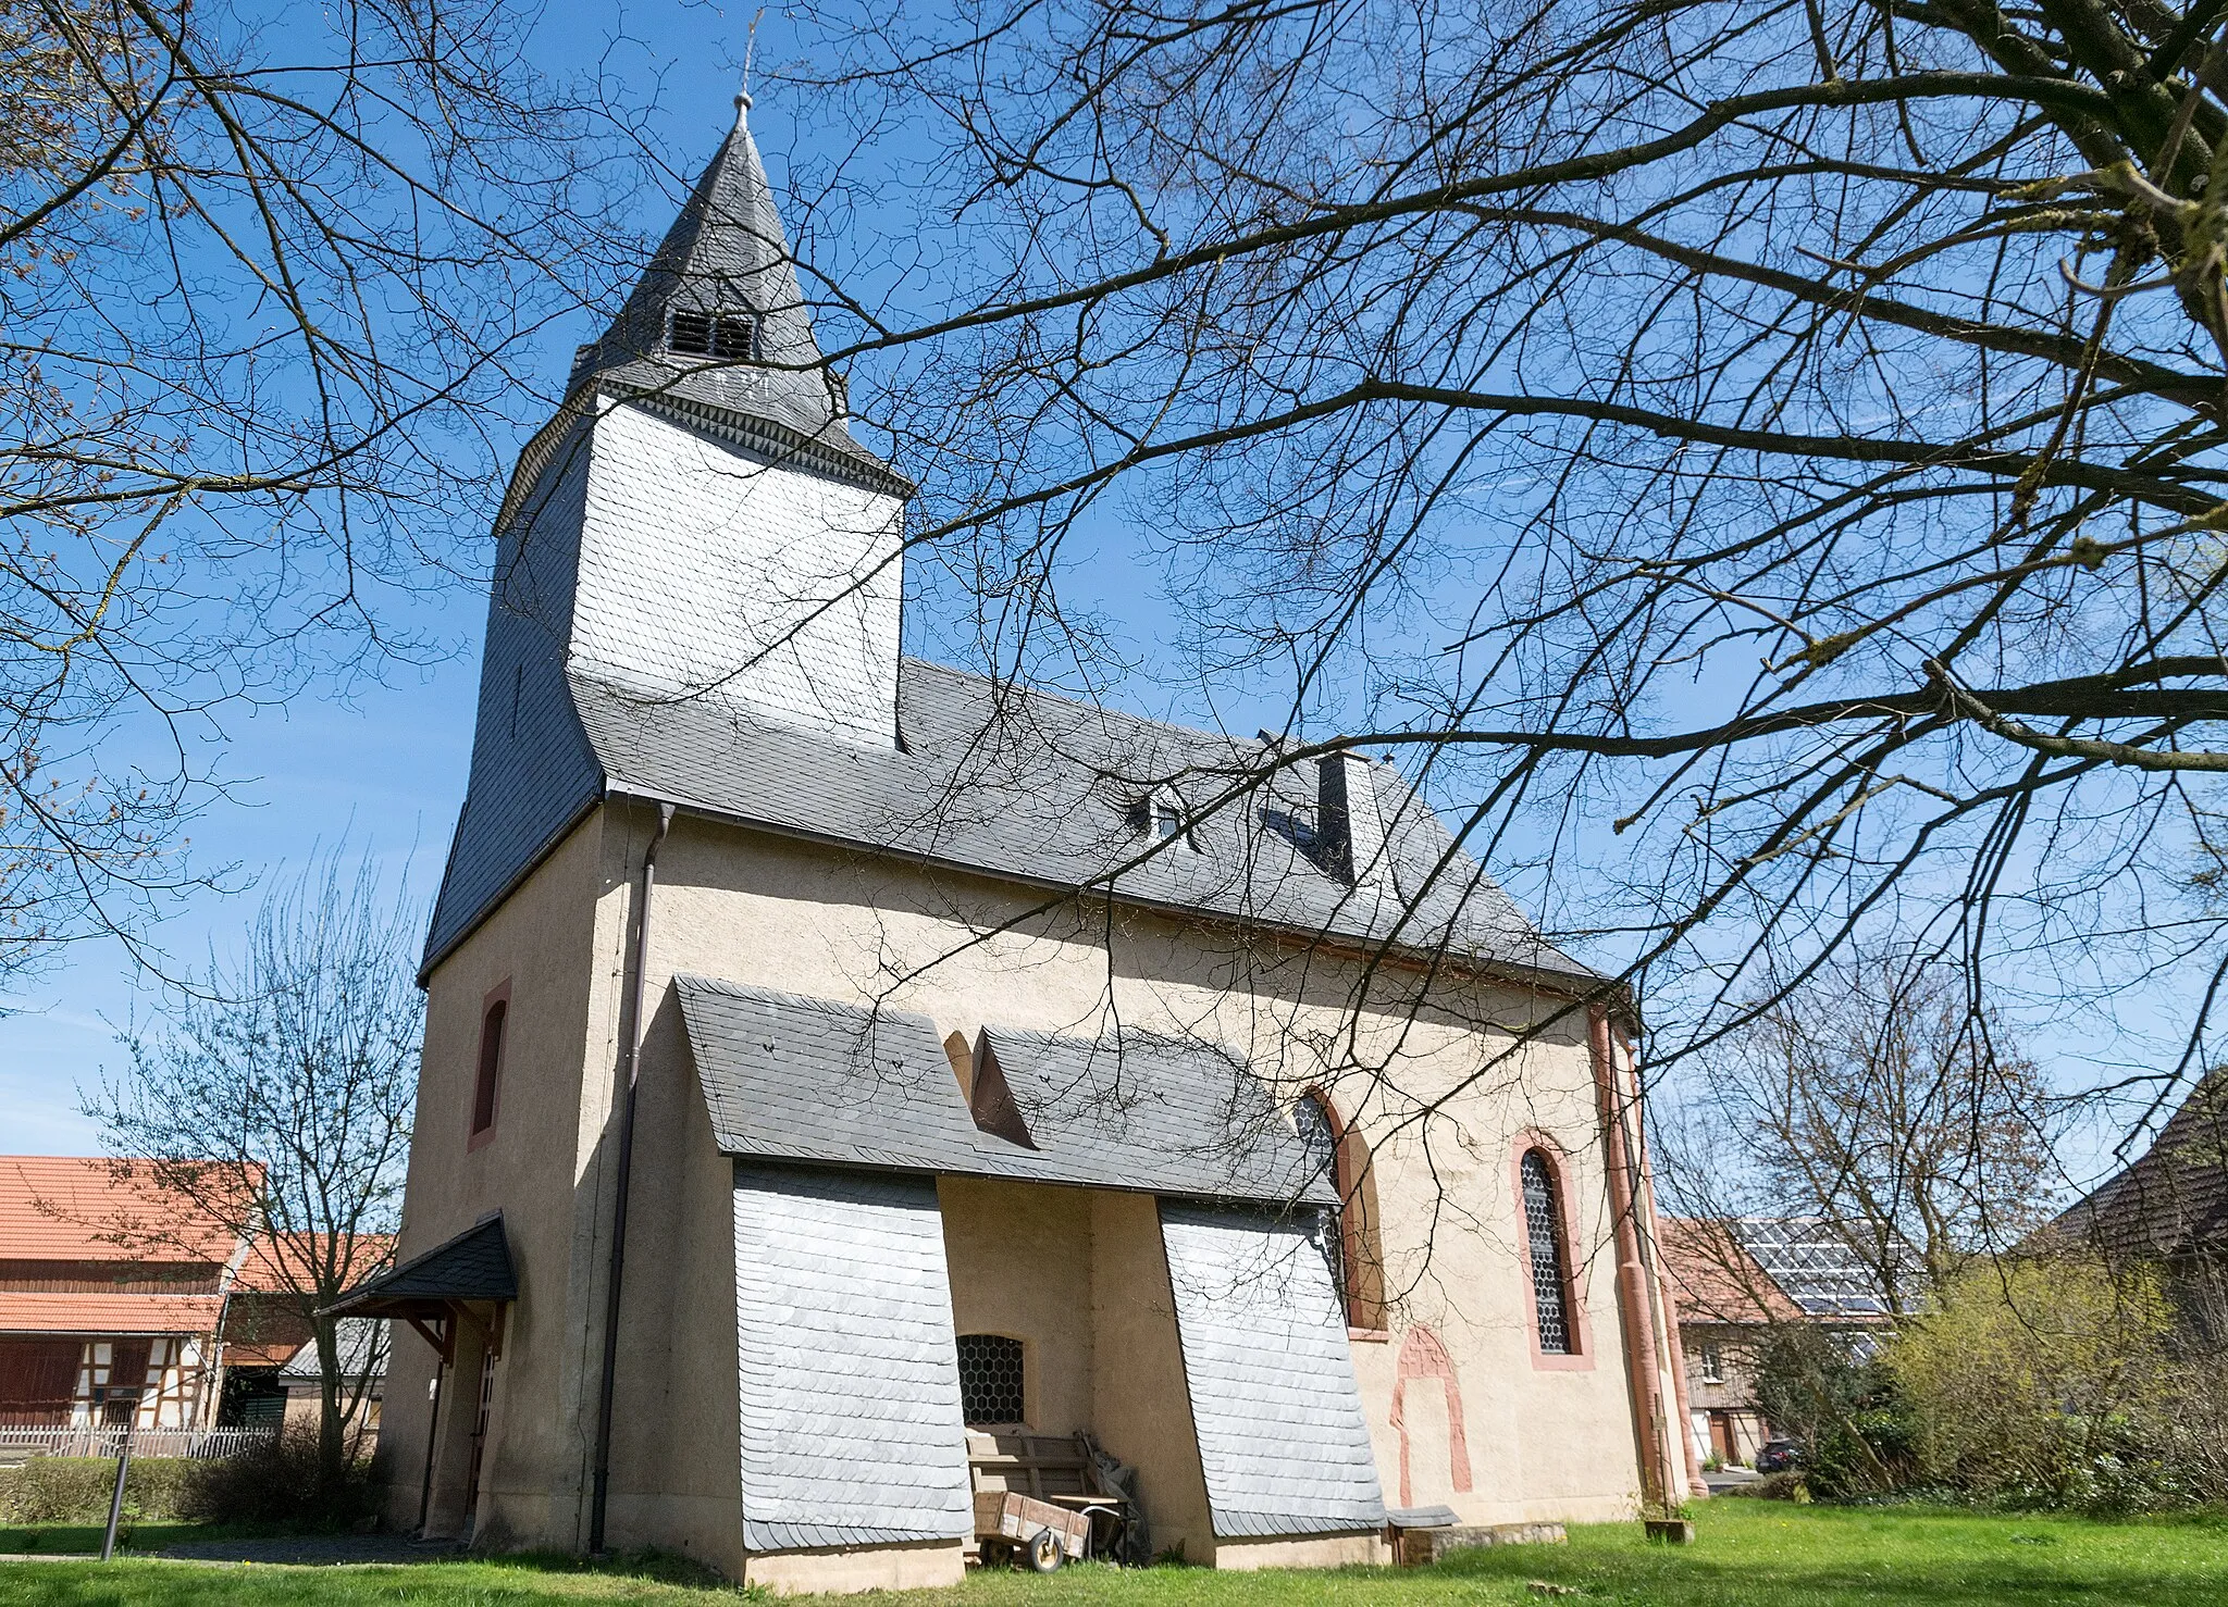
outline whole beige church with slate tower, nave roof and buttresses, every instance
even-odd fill
[[[1390,763],[1203,812],[1261,743],[900,657],[911,487],[818,356],[737,118],[497,521],[336,1304],[390,1518],[858,1589],[958,1580],[1020,1431],[1214,1567],[1684,1498],[1602,979]]]

